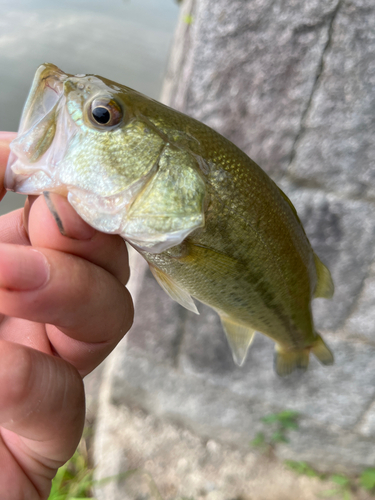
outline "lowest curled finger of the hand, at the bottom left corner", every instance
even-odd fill
[[[12,342],[0,341],[0,359],[0,498],[8,498],[3,488],[20,468],[17,488],[33,485],[47,498],[57,468],[82,434],[82,379],[64,360]]]

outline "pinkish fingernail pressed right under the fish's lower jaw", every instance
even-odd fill
[[[63,236],[74,240],[89,240],[96,234],[96,229],[81,219],[64,196],[49,191],[45,191],[43,195]]]

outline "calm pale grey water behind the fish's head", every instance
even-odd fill
[[[0,0],[0,130],[17,130],[43,62],[158,98],[178,10],[174,0]],[[0,214],[23,198],[8,193]]]

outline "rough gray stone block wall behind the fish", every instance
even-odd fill
[[[278,379],[259,335],[237,368],[216,315],[184,311],[143,270],[108,405],[238,449],[262,416],[294,409],[300,430],[280,457],[375,466],[375,3],[185,0],[162,99],[232,140],[295,204],[335,282],[313,306],[335,365]]]

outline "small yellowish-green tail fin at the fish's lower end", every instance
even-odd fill
[[[309,366],[309,355],[310,352],[314,354],[316,358],[323,365],[333,364],[333,354],[324,343],[322,337],[317,334],[314,343],[300,351],[293,351],[284,349],[279,344],[276,344],[275,353],[275,370],[280,377],[289,375],[297,368],[301,370],[306,370]]]

